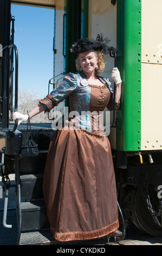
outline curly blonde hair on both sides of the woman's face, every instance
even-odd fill
[[[105,69],[105,58],[103,53],[100,52],[100,50],[98,51],[94,51],[96,54],[96,58],[98,60],[98,68],[95,69],[95,74],[96,75],[100,75],[100,72],[103,72],[103,70]],[[76,70],[80,71],[81,70],[81,65],[80,65],[80,59],[79,56],[77,56],[77,58],[75,59],[75,65],[76,65]]]

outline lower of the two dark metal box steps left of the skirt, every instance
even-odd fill
[[[43,200],[22,202],[22,231],[49,228],[46,206]]]

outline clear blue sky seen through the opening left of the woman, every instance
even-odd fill
[[[53,77],[54,10],[12,4],[11,15],[15,16],[18,88],[39,99],[47,95]]]

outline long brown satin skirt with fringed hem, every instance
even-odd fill
[[[57,131],[43,179],[51,233],[58,241],[88,240],[119,228],[111,147],[106,136]]]

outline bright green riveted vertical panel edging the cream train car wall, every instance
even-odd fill
[[[141,0],[117,1],[117,47],[123,82],[116,149],[137,151],[141,137]]]

